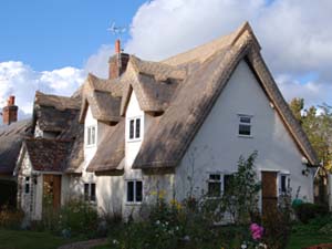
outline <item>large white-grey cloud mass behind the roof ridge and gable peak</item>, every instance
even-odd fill
[[[131,24],[125,51],[145,60],[162,60],[227,34],[249,21],[274,76],[287,96],[309,102],[332,102],[332,1],[320,0],[154,0],[144,3]],[[104,46],[87,63],[87,71],[106,76],[110,50]],[[315,82],[297,76],[315,73]],[[314,90],[314,91],[312,91]],[[292,93],[292,94],[290,94]]]

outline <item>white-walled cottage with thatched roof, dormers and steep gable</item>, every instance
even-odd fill
[[[101,212],[128,217],[139,215],[143,204],[151,203],[158,190],[166,193],[168,200],[179,201],[189,193],[222,195],[239,156],[258,151],[262,210],[277,205],[289,188],[293,198],[313,201],[310,168],[318,164],[317,156],[248,23],[162,62],[123,53],[120,41],[115,52],[107,80],[90,74],[80,94],[66,101],[45,105],[37,97],[35,137],[22,146],[17,167],[20,175],[25,174],[27,165],[27,174],[60,175],[58,199],[62,204],[83,196]],[[37,115],[37,106],[52,108],[43,107]],[[68,110],[77,115],[52,114]],[[80,133],[75,135],[66,132],[76,129]],[[69,135],[62,137],[63,133]],[[52,142],[44,141],[46,137]],[[35,163],[29,143],[51,143],[52,152],[43,152],[51,158],[62,149],[58,146],[65,144],[68,157],[59,163],[51,158]],[[29,164],[22,163],[24,159]],[[302,174],[307,168],[309,174]],[[31,208],[35,210],[41,203],[30,205],[35,205]]]

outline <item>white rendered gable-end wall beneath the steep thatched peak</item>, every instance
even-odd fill
[[[251,137],[238,136],[238,114],[252,115]],[[253,151],[258,151],[259,177],[266,169],[289,173],[292,196],[300,186],[299,197],[313,200],[312,175],[302,175],[302,155],[248,64],[242,61],[176,169],[177,197],[181,199],[189,191],[188,176],[194,178],[194,191],[200,195],[203,190],[207,191],[209,173],[236,172],[239,156],[248,157]]]

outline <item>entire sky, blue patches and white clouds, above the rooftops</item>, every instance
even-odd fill
[[[106,77],[113,21],[129,27],[124,50],[153,61],[249,21],[286,100],[332,105],[331,13],[331,0],[2,0],[0,106],[15,95],[22,118],[37,90],[71,95],[87,72]]]

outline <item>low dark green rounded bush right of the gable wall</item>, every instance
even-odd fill
[[[308,224],[310,219],[325,216],[329,214],[329,207],[325,205],[320,204],[300,204],[294,207],[295,214],[298,219],[303,222]]]

